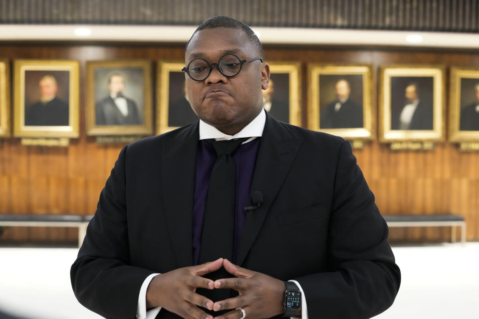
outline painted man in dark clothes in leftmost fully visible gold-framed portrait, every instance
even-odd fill
[[[67,126],[68,103],[56,96],[58,85],[52,75],[43,76],[38,82],[40,101],[34,103],[25,114],[25,125]]]

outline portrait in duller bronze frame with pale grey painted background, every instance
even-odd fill
[[[87,135],[152,134],[150,61],[88,61],[86,72]]]

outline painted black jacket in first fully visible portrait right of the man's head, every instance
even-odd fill
[[[338,112],[334,110],[336,103],[329,103],[323,114],[320,114],[321,129],[349,129],[363,127],[363,107],[351,99],[341,105]]]

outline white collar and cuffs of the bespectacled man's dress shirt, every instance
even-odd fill
[[[240,139],[240,138],[247,138],[250,139],[244,141],[244,143],[248,143],[258,137],[263,135],[264,124],[266,123],[266,111],[261,111],[248,125],[246,125],[240,132],[235,135],[228,135],[214,126],[211,126],[202,120],[200,120],[200,140],[206,139],[215,139],[216,141],[223,141],[223,140],[233,140],[233,139]],[[161,307],[152,308],[146,310],[146,290],[148,289],[148,285],[150,284],[153,277],[159,274],[151,274],[148,276],[143,284],[141,285],[140,294],[138,297],[138,307],[137,307],[137,315],[138,319],[154,319],[161,310]],[[291,282],[295,283],[299,290],[301,291],[301,318],[308,319],[308,308],[306,307],[306,297],[304,296],[303,289],[299,285],[299,283],[295,280],[290,280]],[[246,314],[246,318],[248,314]],[[299,318],[299,317],[291,317],[291,318]]]

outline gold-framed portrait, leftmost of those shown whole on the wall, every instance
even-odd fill
[[[77,138],[78,62],[14,61],[15,137]]]

